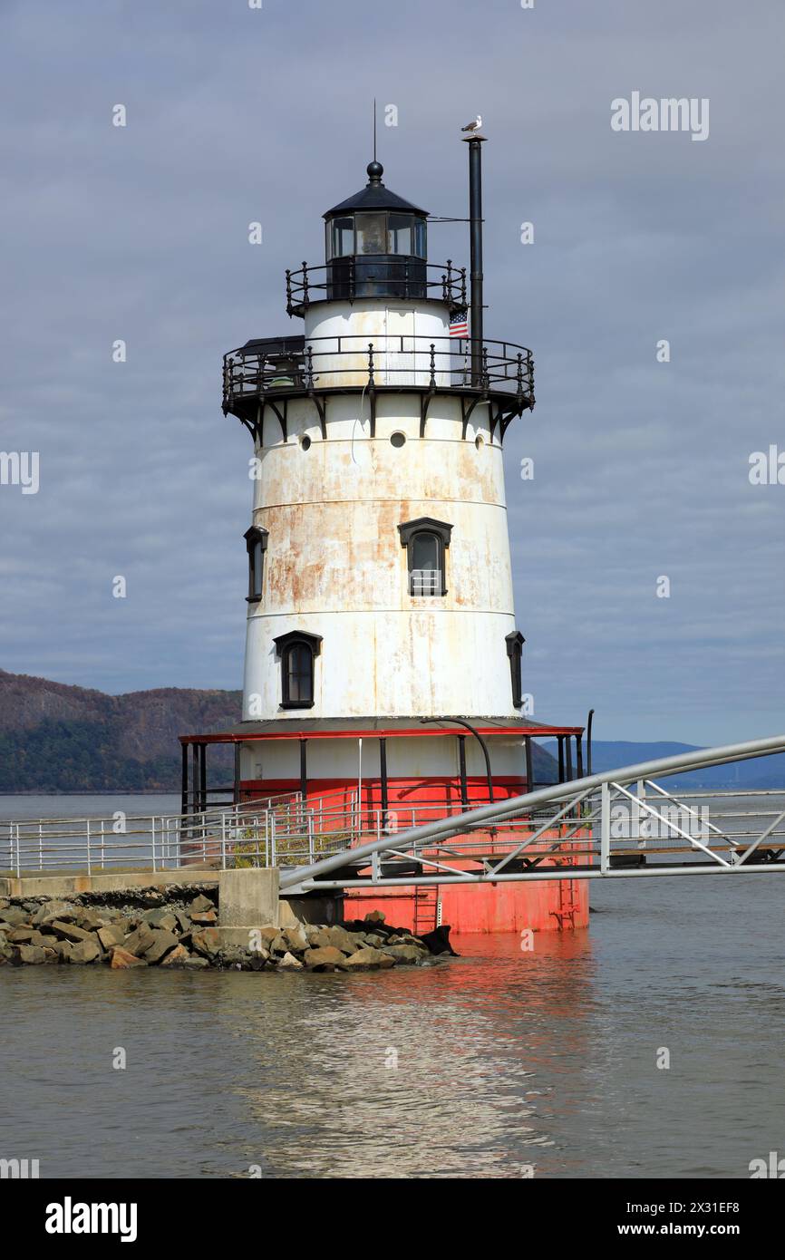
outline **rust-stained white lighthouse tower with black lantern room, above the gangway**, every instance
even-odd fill
[[[484,335],[484,139],[465,142],[469,273],[432,261],[428,212],[374,159],[323,214],[324,256],[285,273],[295,330],[224,355],[252,440],[243,713],[181,737],[184,804],[204,806],[215,742],[236,799],[352,803],[384,830],[525,791],[536,737],[561,777],[575,741],[580,770],[582,727],[525,703],[503,446],[533,357]]]

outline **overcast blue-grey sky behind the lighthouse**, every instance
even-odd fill
[[[460,125],[480,111],[489,137],[485,331],[536,355],[505,440],[536,716],[593,706],[597,738],[694,743],[785,728],[785,485],[748,478],[785,451],[781,0],[0,14],[0,450],[40,452],[38,494],[0,485],[0,668],[241,685],[251,445],[221,357],[300,330],[284,270],[320,261],[323,212],[364,183],[375,96],[398,108],[384,180],[433,214],[466,214]],[[708,98],[708,139],[612,131],[634,91]],[[430,253],[467,263],[465,226],[433,226]]]

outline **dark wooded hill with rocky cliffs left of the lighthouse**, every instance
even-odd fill
[[[105,696],[0,670],[0,793],[175,791],[178,736],[241,716],[241,692]],[[212,782],[231,782],[231,750],[214,748],[208,767]]]

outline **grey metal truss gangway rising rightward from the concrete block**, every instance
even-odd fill
[[[785,736],[678,753],[406,830],[382,816],[364,843],[282,868],[281,892],[785,873],[785,764],[774,790],[680,791],[660,781],[780,752]]]

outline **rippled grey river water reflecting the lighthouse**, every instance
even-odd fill
[[[617,879],[591,902],[588,931],[457,937],[417,970],[0,968],[0,1157],[42,1177],[743,1178],[785,1154],[785,877]]]

